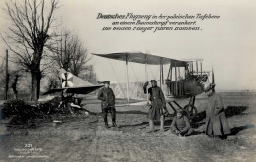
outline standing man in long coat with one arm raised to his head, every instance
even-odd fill
[[[148,93],[150,94],[149,99],[151,102],[151,107],[148,112],[150,132],[155,131],[153,120],[160,121],[160,130],[164,131],[163,109],[166,110],[165,97],[161,88],[157,86],[157,81],[151,80],[150,82],[152,84],[152,87],[148,89]],[[148,86],[148,82],[145,82],[145,84],[143,85],[143,90],[145,94],[147,93],[147,86]]]

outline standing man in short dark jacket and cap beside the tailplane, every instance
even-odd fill
[[[115,95],[113,90],[109,87],[110,81],[98,81],[98,83],[103,83],[105,86],[100,89],[98,93],[98,99],[101,100],[101,108],[103,113],[103,118],[105,122],[105,127],[109,128],[107,122],[107,113],[110,112],[112,116],[113,127],[116,125],[116,110],[115,110]]]

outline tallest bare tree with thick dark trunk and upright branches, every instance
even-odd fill
[[[6,3],[12,25],[2,38],[15,53],[16,62],[31,73],[31,100],[37,100],[42,77],[41,61],[50,38],[58,0],[10,0]]]

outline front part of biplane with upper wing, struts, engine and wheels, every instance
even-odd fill
[[[195,107],[195,98],[197,95],[204,92],[205,83],[209,82],[210,71],[203,71],[202,61],[203,59],[193,60],[176,60],[167,57],[156,56],[152,54],[146,54],[141,52],[121,52],[121,53],[109,53],[109,54],[96,54],[93,55],[124,61],[126,64],[126,99],[127,105],[136,105],[136,103],[130,103],[129,95],[129,63],[139,63],[145,65],[145,81],[149,81],[147,75],[147,66],[155,65],[160,69],[160,87],[164,92],[166,102],[176,112],[176,107],[183,109],[187,112],[189,118],[193,118],[197,114]],[[167,74],[164,74],[163,66],[168,67]],[[181,75],[183,74],[183,76]],[[156,79],[155,79],[156,80]],[[214,83],[214,74],[212,71],[212,83]],[[141,89],[143,90],[143,89]],[[148,95],[146,95],[146,101],[148,102]],[[177,102],[181,99],[189,99],[189,103],[182,108]],[[142,103],[142,102],[141,102]]]

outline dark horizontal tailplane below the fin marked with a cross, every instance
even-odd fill
[[[103,85],[95,85],[95,86],[85,86],[85,87],[67,87],[67,88],[54,88],[51,89],[42,95],[52,94],[56,92],[61,92],[63,90],[66,90],[66,93],[74,93],[74,94],[88,94],[92,91],[95,91],[96,89],[101,88]]]

